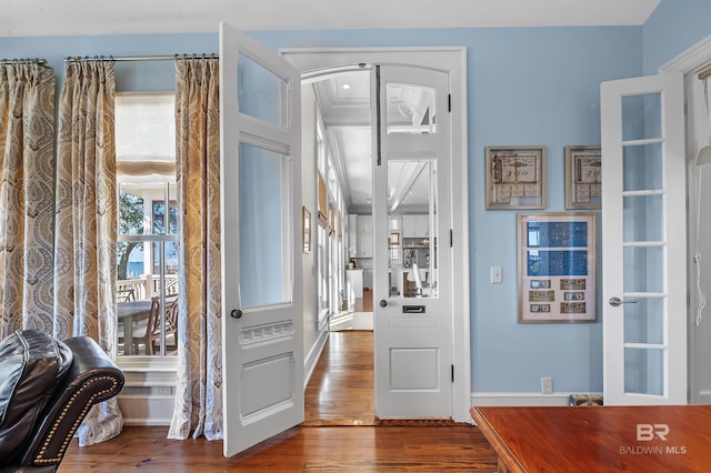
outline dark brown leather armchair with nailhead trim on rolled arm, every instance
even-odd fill
[[[0,342],[0,473],[53,472],[93,404],[117,395],[123,373],[92,339],[39,330]]]

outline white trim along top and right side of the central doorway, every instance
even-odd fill
[[[452,324],[452,419],[471,422],[471,346],[469,285],[469,169],[467,125],[467,48],[284,48],[280,52],[303,74],[336,67],[364,63],[399,63],[445,71],[452,92],[452,240],[454,314]]]

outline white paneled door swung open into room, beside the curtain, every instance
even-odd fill
[[[224,456],[303,420],[300,92],[220,24]]]

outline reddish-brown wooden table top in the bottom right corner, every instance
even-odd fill
[[[510,472],[711,472],[711,405],[470,412]]]

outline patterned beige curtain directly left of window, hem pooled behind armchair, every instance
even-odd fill
[[[113,63],[68,62],[59,99],[54,334],[88,335],[116,353],[117,184]],[[77,435],[118,435],[116,397],[94,405]]]

